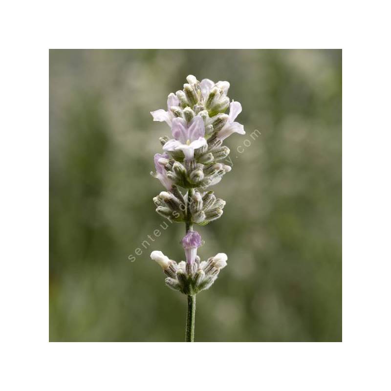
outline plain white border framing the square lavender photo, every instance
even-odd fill
[[[8,385],[2,389],[390,387],[391,63],[385,4],[3,6],[0,381]],[[47,342],[49,47],[344,48],[344,343]]]

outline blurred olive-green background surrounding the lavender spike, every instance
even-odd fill
[[[226,140],[223,216],[197,228],[228,266],[195,340],[342,340],[341,50],[50,50],[49,68],[50,341],[184,340],[186,297],[149,256],[183,259],[184,224],[153,237],[149,173],[170,134],[150,111],[188,74],[229,81],[247,131]]]

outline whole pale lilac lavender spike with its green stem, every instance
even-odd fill
[[[239,102],[227,96],[229,83],[201,82],[189,75],[183,90],[170,93],[167,111],[151,111],[153,121],[165,121],[173,138],[161,137],[164,153],[154,155],[156,173],[167,191],[153,198],[156,212],[171,221],[185,223],[182,246],[185,261],[170,260],[161,251],[152,251],[151,258],[167,275],[166,285],[187,295],[186,342],[194,341],[195,296],[208,289],[227,265],[227,255],[218,253],[201,261],[197,248],[201,236],[193,225],[206,225],[223,214],[225,201],[217,198],[210,186],[220,182],[231,167],[220,163],[230,150],[223,141],[232,133],[245,134],[243,125],[235,122],[241,112]],[[229,107],[229,114],[225,111]],[[182,194],[180,188],[184,189]]]

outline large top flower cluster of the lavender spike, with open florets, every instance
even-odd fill
[[[230,153],[223,140],[233,133],[245,133],[243,125],[235,122],[241,105],[230,103],[228,82],[199,82],[193,75],[187,82],[183,90],[169,94],[167,111],[151,111],[154,121],[165,121],[172,131],[173,138],[160,138],[164,153],[155,154],[156,173],[152,173],[167,190],[172,185],[206,189],[217,184],[231,171],[221,163]],[[229,114],[225,114],[228,107]]]

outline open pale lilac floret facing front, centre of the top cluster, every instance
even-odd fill
[[[194,158],[194,151],[207,144],[204,138],[204,121],[199,116],[194,117],[189,125],[183,118],[174,118],[172,132],[174,139],[168,140],[163,145],[163,150],[180,150],[184,153],[186,160],[192,160]]]

